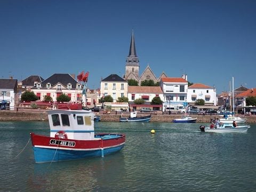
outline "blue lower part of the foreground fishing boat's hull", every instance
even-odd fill
[[[124,145],[97,150],[63,150],[33,147],[35,162],[58,162],[75,159],[83,159],[86,157],[103,157],[108,154],[116,153],[121,150]]]

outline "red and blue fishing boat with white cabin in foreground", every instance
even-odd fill
[[[36,163],[104,157],[125,145],[125,134],[94,134],[94,113],[87,110],[47,111],[50,137],[30,133]]]

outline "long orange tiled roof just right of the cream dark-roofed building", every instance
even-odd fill
[[[128,86],[128,93],[163,93],[161,86]]]

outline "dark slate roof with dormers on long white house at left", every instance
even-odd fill
[[[76,87],[77,81],[69,74],[53,74],[42,82],[42,87],[46,87],[47,83],[51,83],[52,86],[56,85],[57,83],[67,86],[70,83],[72,84],[72,87]]]

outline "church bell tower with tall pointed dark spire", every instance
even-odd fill
[[[139,79],[139,68],[140,68],[139,59],[136,54],[134,34],[132,30],[129,55],[127,56],[126,65],[125,65],[125,78],[126,79],[133,78],[135,76],[135,78]]]

